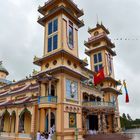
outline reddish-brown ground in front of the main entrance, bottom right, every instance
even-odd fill
[[[131,140],[121,134],[99,134],[96,136],[87,136],[85,140]]]

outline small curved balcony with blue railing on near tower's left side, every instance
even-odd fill
[[[38,97],[39,108],[56,108],[57,97],[56,96],[42,96]]]

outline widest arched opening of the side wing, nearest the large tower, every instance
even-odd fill
[[[19,132],[20,133],[31,133],[31,113],[29,110],[24,109],[19,116]]]

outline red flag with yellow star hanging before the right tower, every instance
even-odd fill
[[[97,74],[94,75],[94,84],[98,85],[105,79],[104,68],[100,69]]]

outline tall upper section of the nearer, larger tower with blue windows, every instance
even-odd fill
[[[66,50],[78,57],[78,29],[83,15],[72,0],[50,0],[38,11],[43,15],[38,23],[45,28],[44,55]]]

